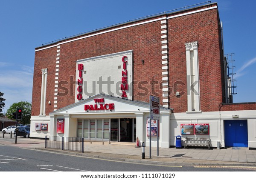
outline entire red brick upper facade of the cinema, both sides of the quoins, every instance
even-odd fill
[[[169,107],[174,108],[174,112],[186,112],[187,83],[186,50],[184,44],[198,41],[201,111],[218,111],[219,104],[224,102],[223,74],[221,74],[221,72],[223,72],[223,54],[218,9],[209,9],[180,17],[167,18],[167,44],[161,43],[161,35],[163,35],[161,34],[161,20],[106,32],[123,26],[130,26],[145,21],[166,18],[214,6],[217,6],[217,4],[212,3],[194,9],[151,17],[145,20],[126,23],[85,34],[86,36],[98,34],[95,36],[63,43],[85,36],[82,35],[36,48],[32,115],[37,116],[40,114],[41,69],[45,68],[48,69],[46,114],[48,115],[49,112],[54,110],[53,103],[49,105],[48,101],[54,102],[54,86],[57,85],[55,84],[57,44],[60,43],[63,44],[60,45],[60,54],[58,56],[60,58],[58,63],[58,87],[61,86],[61,89],[66,88],[68,92],[63,90],[58,91],[59,94],[64,92],[66,94],[58,94],[57,109],[75,102],[77,60],[128,50],[133,50],[133,100],[148,102],[149,95],[156,92],[156,94],[153,95],[160,97],[162,102],[163,75],[161,51],[167,50],[169,75],[166,76],[169,77]],[[105,33],[100,34],[101,32]],[[161,49],[163,45],[167,45],[168,48]],[[48,48],[48,46],[53,47]],[[142,60],[144,60],[144,64]],[[175,96],[176,91],[183,93],[180,98]],[[239,108],[240,106],[241,109],[243,109],[243,106],[246,105],[239,105]],[[224,109],[227,108],[223,107],[222,110]]]

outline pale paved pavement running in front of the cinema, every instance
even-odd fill
[[[15,137],[10,138],[10,134],[0,133],[0,146],[16,146],[20,148],[36,149],[40,151],[51,151],[76,156],[85,156],[105,160],[119,160],[132,163],[148,163],[166,166],[200,165],[200,166],[249,166],[256,170],[256,150],[248,148],[189,148],[176,149],[151,148],[151,158],[149,158],[149,147],[145,147],[145,159],[142,159],[142,148],[135,147],[135,143],[117,142],[84,142],[84,153],[74,151],[62,151],[58,149],[45,148],[45,140],[37,138]]]

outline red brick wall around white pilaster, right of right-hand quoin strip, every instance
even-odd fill
[[[187,110],[184,44],[198,41],[201,110],[218,111],[218,104],[222,102],[222,89],[217,9],[169,19],[168,26],[171,72],[169,79],[170,87],[173,89],[170,95],[171,107],[174,108],[174,112]],[[177,98],[176,89],[184,95]]]

